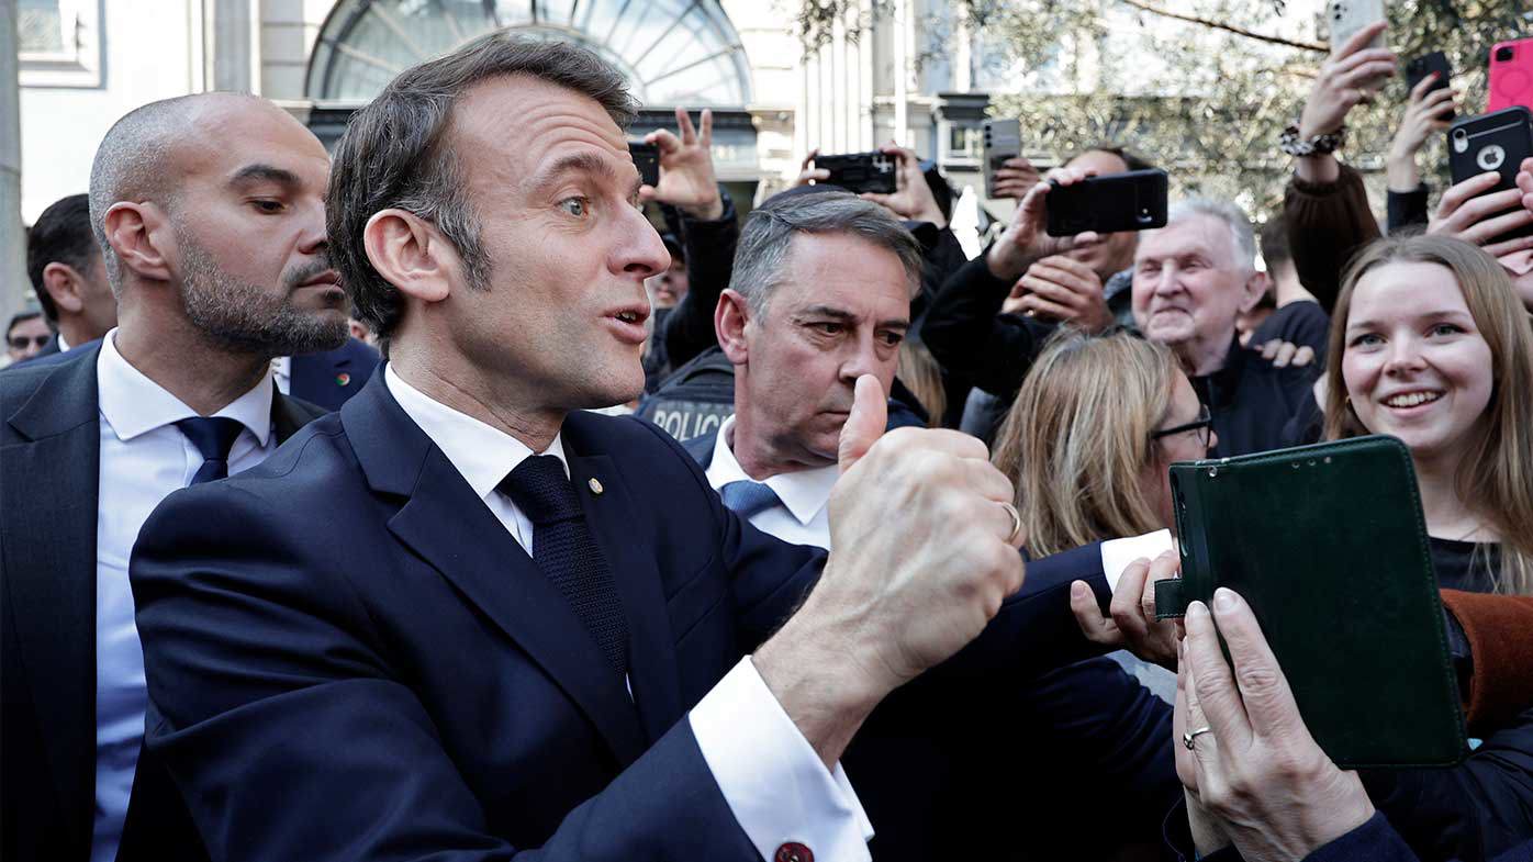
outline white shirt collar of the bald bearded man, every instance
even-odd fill
[[[101,353],[97,356],[97,393],[101,416],[123,442],[198,416],[198,411],[133,368],[127,359],[123,359],[123,354],[117,351],[117,330],[109,331],[101,339]],[[250,391],[228,402],[213,416],[238,420],[265,446],[271,437],[271,399],[274,393],[271,376],[262,374],[261,382]]]

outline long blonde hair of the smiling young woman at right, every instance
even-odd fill
[[[1501,537],[1496,592],[1533,595],[1533,324],[1512,279],[1481,248],[1443,236],[1380,239],[1352,261],[1331,316],[1326,360],[1326,439],[1367,434],[1341,376],[1346,324],[1357,282],[1384,264],[1446,267],[1464,293],[1464,305],[1490,347],[1490,403],[1462,446],[1453,491]]]

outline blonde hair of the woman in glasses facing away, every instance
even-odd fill
[[[1033,555],[1160,529],[1141,485],[1177,365],[1133,333],[1062,328],[1033,362],[990,462],[1016,482]]]

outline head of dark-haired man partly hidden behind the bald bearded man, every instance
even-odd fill
[[[104,336],[117,325],[117,296],[90,230],[90,196],[54,201],[26,235],[26,275],[54,327],[38,356],[61,353]]]

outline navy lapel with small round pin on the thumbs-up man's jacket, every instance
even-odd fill
[[[564,456],[570,465],[570,482],[586,509],[586,523],[612,566],[622,598],[633,699],[648,739],[655,741],[681,718],[681,681],[676,678],[676,652],[655,549],[633,540],[633,525],[642,521],[612,460],[607,456],[579,456],[570,445],[566,445]],[[590,483],[593,479],[596,486]],[[595,494],[593,488],[601,488],[601,494]]]

